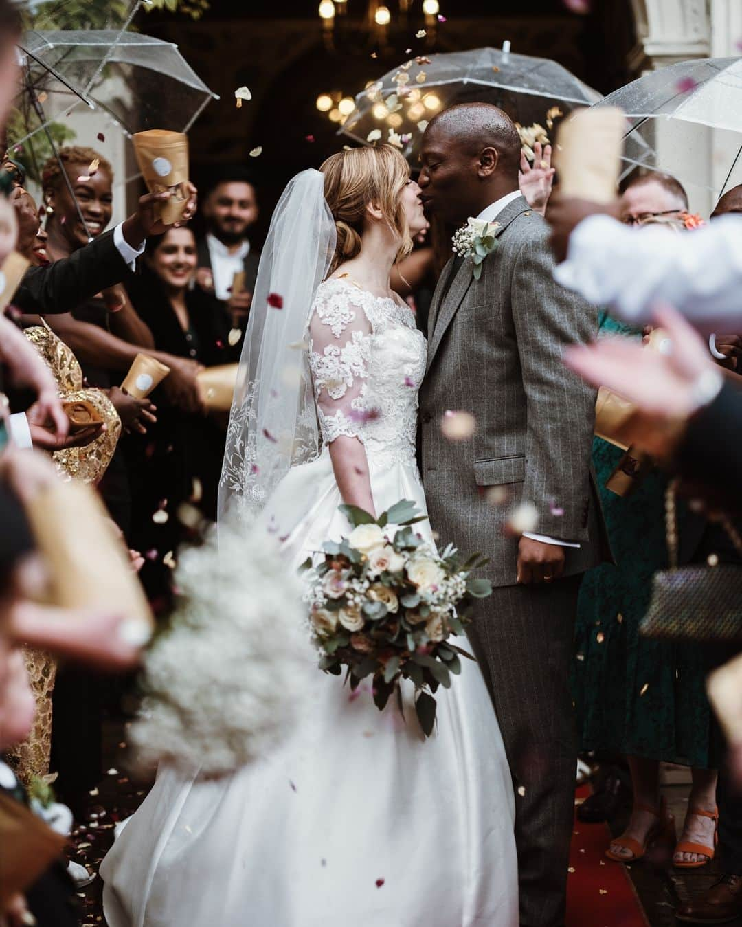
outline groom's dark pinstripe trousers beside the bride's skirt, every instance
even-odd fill
[[[581,577],[507,586],[470,638],[492,694],[515,789],[522,927],[564,923],[577,743],[569,670]]]

